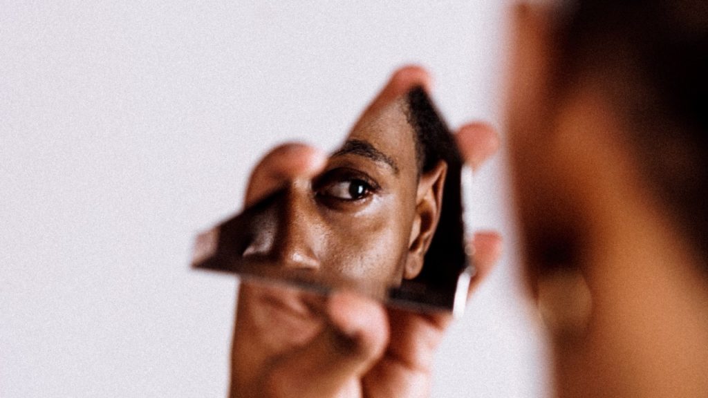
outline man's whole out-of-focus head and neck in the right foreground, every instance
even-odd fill
[[[518,8],[509,128],[561,397],[708,394],[708,3]]]

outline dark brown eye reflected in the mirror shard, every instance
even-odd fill
[[[341,186],[341,184],[348,184],[348,188],[341,188],[346,190],[346,193],[338,195],[338,193],[332,193],[331,190]],[[353,193],[352,189],[355,187],[363,188],[361,193]],[[380,187],[376,181],[374,181],[370,176],[362,173],[358,170],[339,168],[328,171],[321,176],[314,184],[313,191],[318,198],[324,200],[333,200],[339,203],[356,203],[362,200],[366,200],[371,195],[377,193]],[[328,191],[330,191],[328,193]],[[357,190],[360,191],[360,190]],[[343,198],[343,195],[350,195],[351,198]]]

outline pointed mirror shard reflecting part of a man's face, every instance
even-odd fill
[[[423,88],[379,96],[321,173],[283,183],[201,234],[193,265],[452,310],[464,305],[470,273],[461,168],[454,137]]]

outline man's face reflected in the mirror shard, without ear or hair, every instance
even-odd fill
[[[246,258],[347,278],[400,281],[416,215],[415,132],[404,98],[365,115],[314,181],[285,188]]]

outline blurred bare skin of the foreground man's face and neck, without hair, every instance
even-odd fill
[[[628,140],[642,130],[610,94],[634,76],[581,68],[553,91],[552,17],[518,8],[508,126],[556,397],[705,397],[705,259],[646,183]]]

